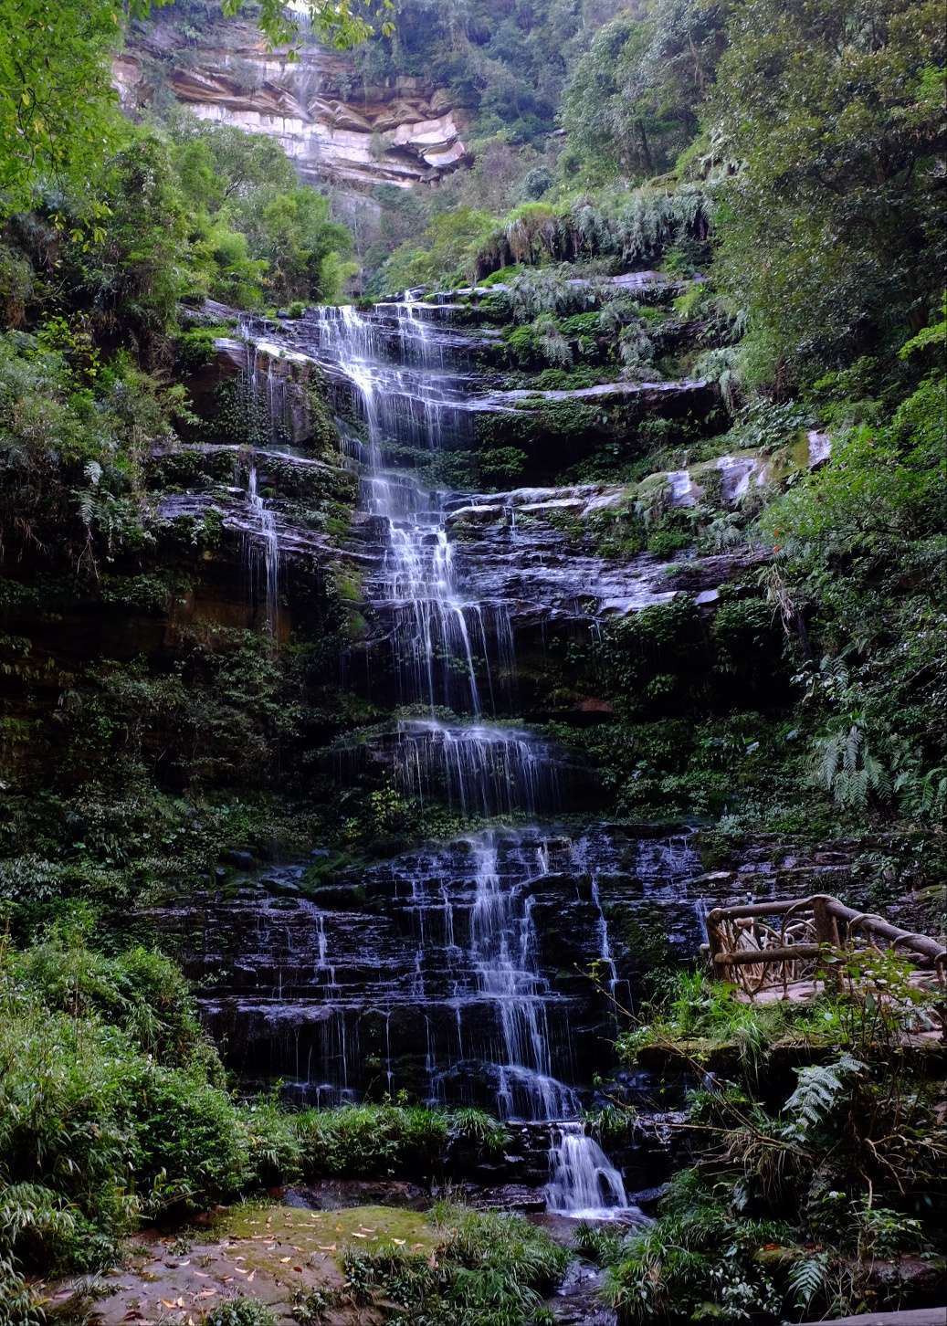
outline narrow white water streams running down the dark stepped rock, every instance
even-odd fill
[[[359,403],[362,436],[350,439],[350,451],[362,467],[362,511],[383,530],[381,570],[366,586],[366,595],[391,623],[390,647],[402,699],[430,711],[427,717],[399,725],[397,781],[406,793],[422,800],[436,786],[464,813],[554,810],[558,769],[548,743],[484,720],[484,712],[492,707],[493,676],[501,668],[509,670],[513,659],[509,619],[500,605],[477,599],[476,586],[458,582],[444,495],[422,487],[411,472],[411,459],[418,463],[456,439],[462,427],[463,379],[446,367],[443,345],[427,322],[426,305],[409,297],[381,308],[386,325],[362,317],[350,306],[318,310],[310,317],[313,343],[306,350],[333,365],[351,383]],[[272,513],[259,496],[255,468],[248,501],[263,540],[267,615],[275,630],[279,540]],[[438,707],[451,708],[466,719],[446,723],[435,713]],[[466,956],[477,988],[472,996],[458,1000],[458,1055],[463,1059],[464,1008],[472,1002],[488,1004],[497,1028],[491,1055],[497,1114],[504,1119],[553,1124],[549,1208],[585,1217],[614,1215],[627,1209],[621,1174],[577,1122],[580,1101],[574,1089],[553,1073],[553,1049],[562,1062],[561,1033],[557,1041],[550,1029],[557,1001],[540,975],[528,887],[531,879],[548,873],[544,850],[524,846],[521,867],[511,876],[500,867],[496,834],[487,831],[470,839],[474,895]],[[529,851],[533,855],[527,859]],[[439,887],[444,936],[450,936],[452,945],[459,918],[447,888]],[[598,911],[600,956],[614,991],[617,973],[597,880],[592,891]],[[419,895],[422,930],[414,976],[419,994],[424,991],[426,915]],[[322,943],[318,967],[334,985],[334,971]],[[390,1017],[389,1012],[385,1021],[389,1086]],[[340,1036],[344,1022],[341,1028]],[[427,1021],[424,1037],[431,1090],[438,1098],[444,1073],[435,1071]],[[336,1054],[340,1053],[345,1069],[345,1044],[336,1045]],[[344,1071],[344,1085],[346,1081]]]

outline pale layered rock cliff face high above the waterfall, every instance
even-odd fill
[[[114,62],[126,110],[170,91],[202,119],[276,138],[302,179],[365,188],[434,183],[467,159],[463,113],[418,78],[357,81],[344,54],[304,45],[290,61],[248,23],[195,33],[174,11],[137,25]]]

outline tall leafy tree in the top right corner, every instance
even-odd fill
[[[751,370],[784,390],[885,354],[943,273],[938,0],[743,0],[708,123],[743,168],[718,276]]]

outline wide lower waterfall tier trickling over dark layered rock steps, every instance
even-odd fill
[[[585,975],[602,927],[623,979],[638,932],[696,953],[682,899],[706,892],[690,883],[700,874],[684,837],[493,830],[312,883],[304,866],[272,869],[154,924],[180,936],[204,1020],[245,1079],[281,1079],[310,1103],[390,1086],[568,1119],[605,1103],[592,1083],[614,1021]]]

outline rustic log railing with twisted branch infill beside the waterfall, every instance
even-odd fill
[[[813,980],[830,951],[890,949],[947,987],[947,948],[829,894],[715,907],[707,914],[711,969],[755,996]]]

